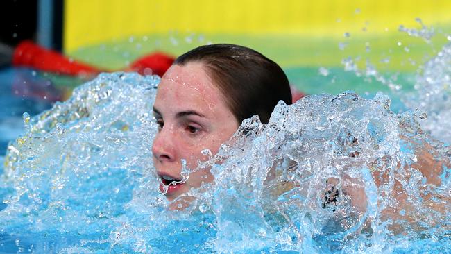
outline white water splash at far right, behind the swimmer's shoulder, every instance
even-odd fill
[[[434,36],[434,29],[425,26],[420,19],[416,21],[421,24],[421,30],[400,26],[400,31],[407,32],[409,36],[423,37],[427,43],[430,43]],[[402,46],[402,42],[397,44]],[[410,50],[407,47],[404,49],[407,52]],[[436,139],[448,144],[451,142],[451,44],[445,44],[436,56],[418,67],[413,91],[403,90],[402,85],[396,81],[396,76],[384,76],[368,59],[365,68],[359,67],[357,64],[359,60],[359,57],[349,56],[341,63],[345,71],[354,72],[358,77],[368,78],[368,81],[372,78],[389,87],[393,95],[398,96],[405,104],[405,108],[424,112],[428,117],[427,121],[425,117],[419,119],[423,130]],[[414,60],[409,59],[409,61],[412,65],[416,65]],[[389,60],[384,59],[382,62],[389,62]]]

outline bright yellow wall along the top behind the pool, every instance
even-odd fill
[[[66,0],[64,48],[169,31],[343,36],[367,27],[383,33],[412,26],[416,17],[449,23],[450,13],[449,0]]]

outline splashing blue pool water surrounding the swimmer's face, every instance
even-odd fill
[[[23,115],[2,159],[0,252],[449,253],[450,49],[405,93],[316,94],[247,119],[183,169],[215,181],[173,201],[182,211],[152,162],[159,78],[101,74]]]

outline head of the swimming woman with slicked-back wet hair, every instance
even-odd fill
[[[287,76],[253,49],[213,44],[179,56],[162,77],[153,106],[158,123],[153,162],[168,186],[167,199],[213,181],[208,169],[182,179],[182,159],[196,169],[199,160],[207,160],[203,149],[217,153],[241,121],[253,115],[266,124],[280,100],[291,104]]]

